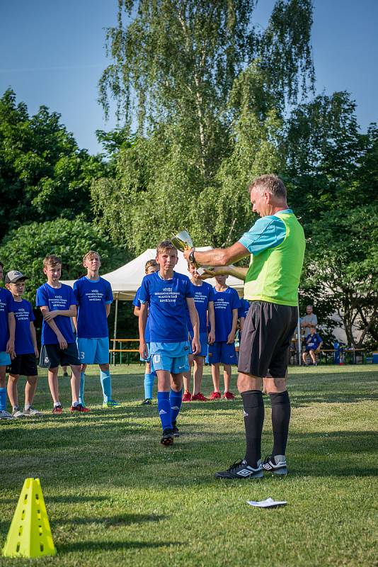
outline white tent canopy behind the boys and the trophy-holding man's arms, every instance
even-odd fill
[[[210,250],[211,247],[198,247],[197,250]],[[134,299],[137,289],[142,283],[144,277],[144,264],[147,260],[154,259],[156,257],[156,249],[148,248],[140,254],[137,258],[134,258],[131,262],[127,262],[124,266],[110,271],[108,274],[101,274],[101,276],[110,282],[112,286],[113,296],[115,300],[120,301],[132,301]],[[188,264],[182,254],[178,252],[178,264],[175,266],[175,271],[180,274],[189,275]],[[207,279],[208,283],[212,286],[215,285],[215,279]],[[74,285],[74,280],[63,281],[62,283],[67,283],[69,286]],[[227,278],[227,285],[231,288],[236,289],[239,296],[243,295],[244,282],[240,279],[229,276]]]

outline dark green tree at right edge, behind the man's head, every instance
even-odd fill
[[[305,225],[324,210],[346,211],[374,200],[377,142],[374,125],[360,133],[348,93],[317,96],[294,109],[285,125],[283,174]]]

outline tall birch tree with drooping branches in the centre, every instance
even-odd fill
[[[135,252],[183,225],[198,244],[227,242],[245,228],[240,164],[279,169],[280,120],[311,88],[311,1],[277,0],[263,31],[254,0],[118,4],[100,99],[106,110],[115,97],[137,140],[120,150],[117,179],[93,184],[98,220]]]

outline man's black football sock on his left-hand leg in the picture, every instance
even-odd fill
[[[249,466],[257,467],[261,459],[261,432],[264,422],[263,393],[260,390],[248,390],[241,394],[244,408],[244,427],[246,428],[246,461]]]

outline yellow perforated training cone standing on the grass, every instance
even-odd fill
[[[39,478],[26,478],[3,549],[5,557],[56,555]]]

